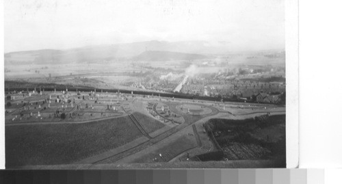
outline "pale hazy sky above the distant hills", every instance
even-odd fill
[[[284,0],[5,0],[5,53],[147,40],[284,49]]]

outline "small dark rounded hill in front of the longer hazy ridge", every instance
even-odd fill
[[[200,60],[205,59],[207,56],[192,54],[192,53],[179,53],[170,51],[145,51],[133,60],[140,61],[169,61],[169,60]]]

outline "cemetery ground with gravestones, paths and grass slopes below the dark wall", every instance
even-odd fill
[[[6,98],[10,104],[5,105],[8,168],[180,161],[178,158],[213,151],[213,142],[202,126],[211,118],[285,114],[285,107],[279,105],[95,91],[6,96],[10,96]],[[271,135],[272,131],[266,127],[254,137],[265,138],[264,132]]]

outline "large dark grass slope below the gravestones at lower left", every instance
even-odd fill
[[[6,126],[6,167],[72,163],[140,136],[128,116],[83,124]]]

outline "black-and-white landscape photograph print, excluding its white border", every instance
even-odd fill
[[[5,168],[286,168],[285,3],[5,0]]]

